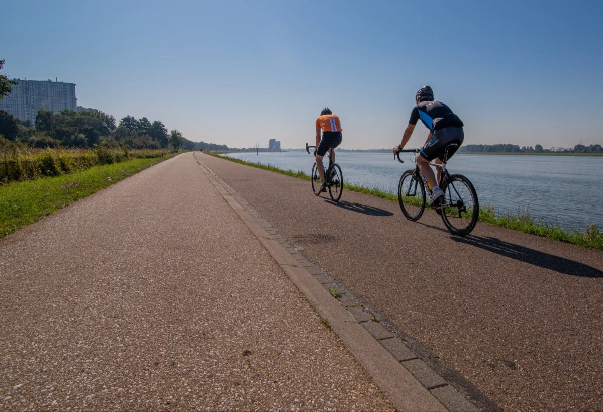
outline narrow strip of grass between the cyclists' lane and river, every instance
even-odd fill
[[[229,160],[230,162],[241,163],[242,165],[286,174],[288,176],[299,177],[300,179],[310,180],[310,176],[303,171],[295,172],[291,170],[281,170],[274,166],[259,165],[258,163],[245,162],[245,160],[233,159],[228,156],[219,156],[218,154],[210,154],[210,156],[219,157],[220,159]],[[384,198],[386,200],[398,200],[397,194],[386,192],[379,188],[367,188],[364,185],[356,186],[344,183],[344,189]],[[518,232],[531,233],[533,235],[543,236],[561,242],[603,250],[603,232],[601,232],[601,229],[594,223],[587,224],[583,231],[577,228],[565,230],[557,223],[545,222],[531,217],[529,209],[518,210],[516,214],[507,213],[497,216],[494,206],[480,206],[479,220],[493,224],[494,226],[517,230]]]

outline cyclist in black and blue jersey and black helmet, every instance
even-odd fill
[[[434,171],[429,162],[435,159],[435,163],[442,164],[444,150],[452,143],[463,144],[464,132],[463,121],[450,110],[446,104],[434,100],[434,90],[429,86],[421,87],[415,94],[417,106],[412,108],[411,118],[402,136],[402,142],[394,147],[394,154],[402,150],[420,119],[425,127],[429,129],[429,135],[421,148],[420,156],[417,156],[417,166],[432,188],[432,197],[429,206],[439,204],[444,192],[438,186],[441,169],[438,168],[438,180],[435,180]],[[458,147],[456,148],[458,149]],[[456,150],[450,150],[448,157],[452,157]]]

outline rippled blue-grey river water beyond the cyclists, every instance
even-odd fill
[[[313,156],[298,150],[227,156],[308,175],[314,163]],[[408,154],[400,158],[404,164],[388,153],[336,151],[345,183],[393,194],[402,172],[414,168]],[[528,212],[565,229],[583,231],[589,223],[603,228],[603,157],[456,154],[447,168],[468,177],[479,204],[493,206],[497,215]]]

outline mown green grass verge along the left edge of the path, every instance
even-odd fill
[[[0,238],[171,156],[95,166],[77,173],[0,186]]]

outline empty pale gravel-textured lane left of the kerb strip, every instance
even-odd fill
[[[391,410],[192,153],[0,239],[0,282],[3,411]]]

